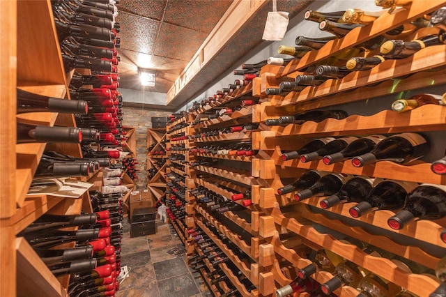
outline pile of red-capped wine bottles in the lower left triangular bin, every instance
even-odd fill
[[[56,276],[70,275],[70,296],[114,296],[121,264],[122,197],[91,192],[94,213],[45,214],[24,236]],[[76,227],[65,231],[67,227]],[[74,248],[61,248],[75,243]]]

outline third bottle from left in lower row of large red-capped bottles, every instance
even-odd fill
[[[340,203],[364,201],[373,189],[373,184],[374,178],[355,176],[346,181],[339,192],[321,200],[319,204],[323,209],[328,209]]]

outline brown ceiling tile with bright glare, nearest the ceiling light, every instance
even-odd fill
[[[137,15],[120,13],[117,22],[121,25],[121,48],[151,54],[160,22]]]

